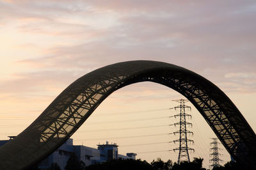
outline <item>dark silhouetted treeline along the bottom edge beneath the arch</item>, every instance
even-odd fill
[[[161,158],[153,160],[148,163],[146,160],[133,160],[133,159],[113,159],[102,164],[95,164],[92,166],[85,166],[83,161],[79,161],[76,156],[72,156],[68,159],[65,170],[206,170],[202,167],[203,158],[194,158],[192,162],[172,162],[167,160],[164,162]],[[212,170],[238,170],[241,167],[236,162],[227,162],[224,166],[214,167]],[[243,168],[242,168],[243,169]],[[48,170],[60,170],[60,166],[54,163]]]

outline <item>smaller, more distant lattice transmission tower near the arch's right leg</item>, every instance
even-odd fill
[[[212,146],[212,148],[210,148],[210,151],[212,151],[212,153],[210,154],[210,157],[212,158],[209,160],[209,162],[212,163],[210,168],[219,167],[220,162],[223,161],[219,158],[221,154],[219,153],[220,148],[218,148],[218,138],[212,138],[212,140],[213,141],[210,143],[210,146]]]

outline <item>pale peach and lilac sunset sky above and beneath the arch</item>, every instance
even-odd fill
[[[209,79],[256,130],[255,18],[255,1],[2,0],[0,139],[22,132],[84,74],[138,59],[172,63]],[[178,147],[168,143],[178,136],[167,134],[177,130],[168,125],[178,120],[168,116],[179,112],[170,108],[180,98],[159,84],[132,84],[110,95],[72,138],[92,147],[108,140],[120,145],[120,153],[135,152],[148,162],[177,161],[177,153],[167,150]],[[187,105],[195,133],[191,158],[203,157],[207,167],[215,135]],[[221,147],[225,163],[229,156]]]

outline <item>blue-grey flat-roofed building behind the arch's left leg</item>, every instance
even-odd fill
[[[10,140],[12,140],[15,136],[9,137]],[[10,140],[0,141],[0,146],[8,143]],[[96,149],[83,145],[74,145],[73,139],[68,139],[60,148],[49,155],[49,157],[45,158],[45,160],[39,164],[38,168],[44,170],[49,168],[52,163],[57,163],[61,169],[65,169],[68,158],[73,154],[76,155],[78,160],[83,161],[86,166],[100,164],[115,158],[135,159],[137,155],[136,153],[120,155],[118,154],[118,145],[116,143],[109,144],[108,141],[106,141],[106,144],[98,144],[97,146],[98,148]]]

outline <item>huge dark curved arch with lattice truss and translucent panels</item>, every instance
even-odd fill
[[[94,70],[70,84],[28,128],[0,147],[0,169],[26,169],[40,162],[65,143],[111,93],[143,81],[163,84],[188,98],[230,155],[255,168],[255,132],[223,91],[180,66],[127,61]]]

